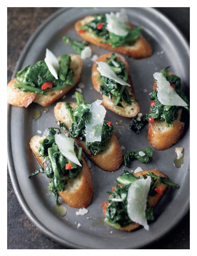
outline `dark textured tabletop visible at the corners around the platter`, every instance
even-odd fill
[[[60,8],[8,8],[8,82],[28,39],[46,18]],[[156,8],[181,30],[189,42],[189,8]],[[14,40],[13,40],[14,38]],[[27,218],[8,173],[8,249],[68,249],[46,237]],[[169,234],[145,249],[189,249],[189,213]]]

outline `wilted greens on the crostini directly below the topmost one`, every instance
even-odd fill
[[[123,81],[128,82],[129,77],[123,62],[116,62],[117,57],[115,54],[111,54],[111,58],[107,58],[107,64],[110,68],[116,73],[116,75],[121,78]],[[99,75],[98,80],[100,80],[100,92],[103,95],[106,95],[109,100],[113,98],[114,106],[123,107],[124,104],[131,106],[132,101],[137,101],[132,99],[132,95],[126,89],[125,85],[121,85],[115,82],[112,79],[109,79],[105,76]],[[123,103],[123,104],[122,104]]]

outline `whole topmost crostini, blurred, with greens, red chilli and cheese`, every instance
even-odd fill
[[[75,24],[77,33],[86,41],[135,59],[151,56],[152,48],[141,34],[141,27],[129,23],[123,9],[115,14],[86,16]]]

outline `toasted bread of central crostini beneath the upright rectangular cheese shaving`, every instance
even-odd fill
[[[74,110],[78,104],[72,102],[70,103],[70,106],[72,107],[72,110]],[[61,123],[64,123],[66,128],[69,129],[72,122],[64,106],[64,102],[58,102],[54,108],[54,112],[56,119],[60,120]],[[75,143],[82,147],[83,151],[94,164],[105,171],[114,172],[119,168],[123,161],[121,148],[115,132],[113,132],[113,135],[106,143],[107,148],[96,156],[91,156],[90,151],[86,148],[85,142],[82,142],[79,138],[75,138]]]

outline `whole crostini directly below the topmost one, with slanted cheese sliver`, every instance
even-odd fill
[[[105,108],[129,118],[139,112],[129,65],[120,54],[99,56],[92,66],[92,83],[102,94]]]

